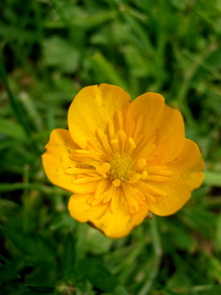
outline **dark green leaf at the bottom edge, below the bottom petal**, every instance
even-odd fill
[[[86,278],[98,289],[113,295],[128,295],[125,287],[97,258],[85,258],[79,268]]]

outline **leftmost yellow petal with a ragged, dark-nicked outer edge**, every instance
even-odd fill
[[[73,175],[65,173],[69,167],[75,167],[75,162],[69,158],[79,148],[65,129],[55,129],[51,132],[50,141],[45,146],[42,163],[49,180],[62,189],[73,192],[75,187],[71,181]]]

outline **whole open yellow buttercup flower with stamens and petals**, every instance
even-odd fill
[[[71,216],[108,237],[127,235],[149,212],[173,214],[202,183],[199,148],[160,94],[131,102],[117,86],[85,87],[70,105],[68,127],[52,131],[44,170],[74,193]]]

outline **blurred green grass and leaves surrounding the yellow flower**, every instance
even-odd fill
[[[221,294],[220,33],[220,0],[0,2],[1,294]],[[118,240],[69,216],[40,157],[100,83],[162,94],[206,164],[182,210]]]

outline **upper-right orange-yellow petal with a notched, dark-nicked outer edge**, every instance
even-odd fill
[[[184,122],[181,113],[166,106],[160,94],[147,92],[131,103],[127,120],[137,122],[142,115],[144,139],[137,146],[136,152],[141,151],[144,145],[156,136],[156,147],[151,155],[157,156],[157,164],[163,165],[174,160],[184,145]]]

